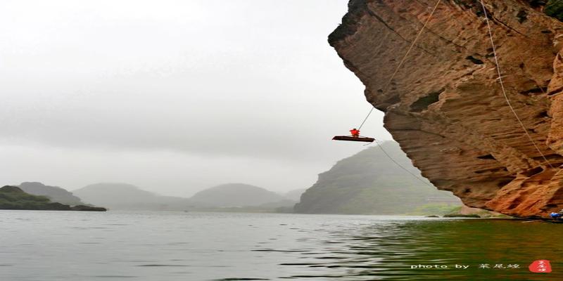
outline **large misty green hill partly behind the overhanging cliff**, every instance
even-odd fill
[[[398,143],[387,141],[382,145],[398,163],[412,174],[420,175]],[[374,146],[340,160],[329,171],[320,174],[317,183],[303,193],[294,211],[305,214],[406,214],[425,204],[448,201],[461,205],[450,192],[425,185],[407,174]]]

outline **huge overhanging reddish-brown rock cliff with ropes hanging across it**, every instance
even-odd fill
[[[422,175],[469,207],[521,217],[563,209],[563,22],[543,1],[486,0],[512,115],[478,1],[353,0],[329,36]],[[367,131],[367,130],[365,130]]]

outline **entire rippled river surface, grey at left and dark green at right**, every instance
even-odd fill
[[[563,224],[120,211],[0,223],[0,280],[563,280]],[[538,259],[552,273],[531,273]]]

